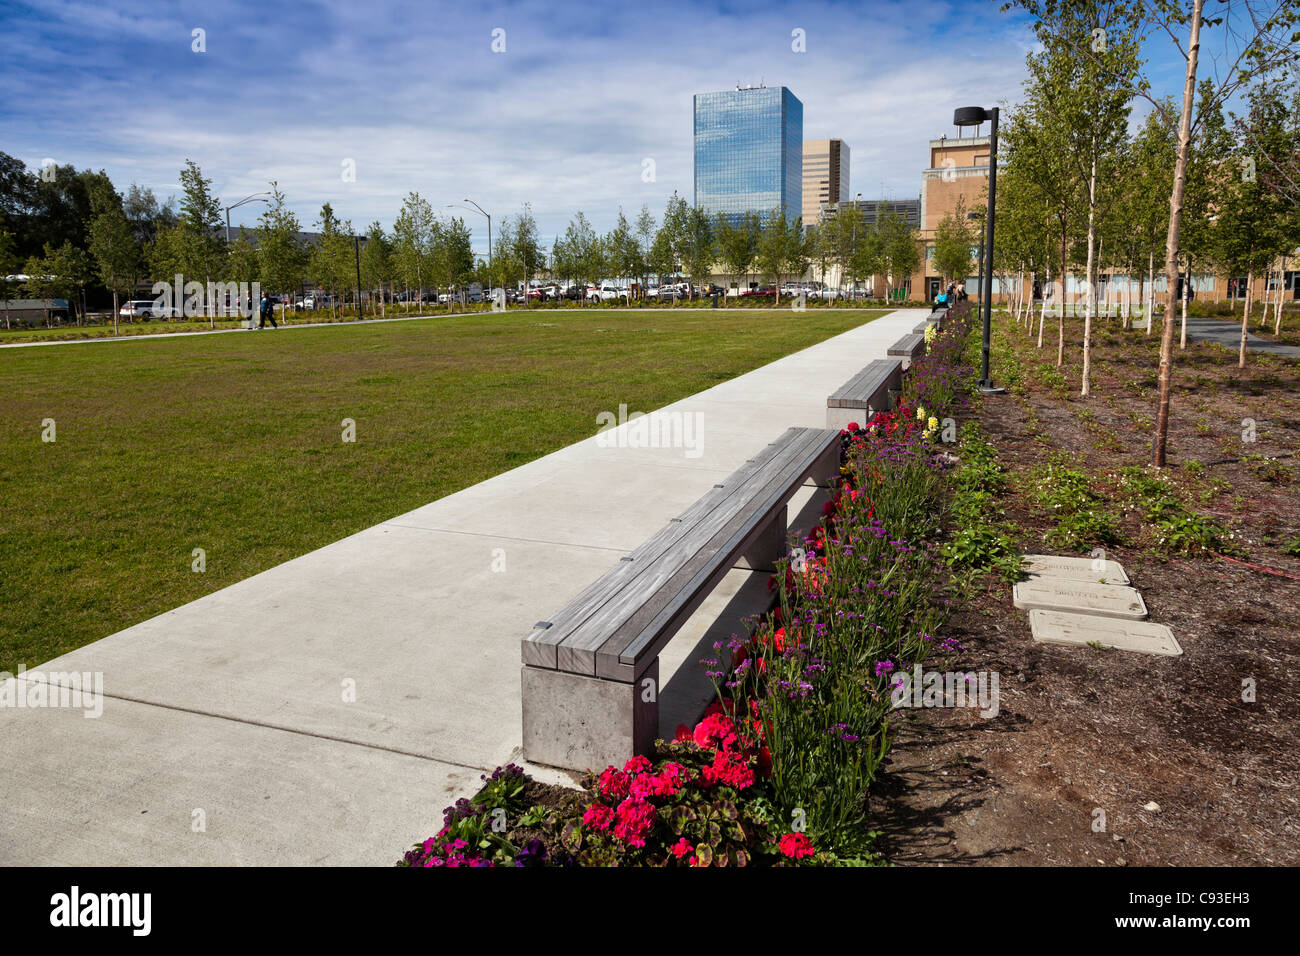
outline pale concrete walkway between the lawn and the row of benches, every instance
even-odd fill
[[[394,862],[519,762],[533,623],[783,431],[824,427],[827,395],[924,315],[668,406],[698,412],[698,457],[589,438],[42,665],[103,672],[107,698],[0,709],[0,862]],[[662,732],[698,715],[698,659],[766,584],[732,571],[660,656]]]

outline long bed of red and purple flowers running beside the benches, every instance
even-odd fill
[[[545,804],[519,767],[500,769],[402,864],[875,862],[868,800],[890,689],[959,649],[937,636],[956,593],[936,542],[952,460],[939,433],[970,390],[968,329],[950,323],[913,363],[898,407],[841,433],[841,481],[772,576],[772,610],[702,662],[718,700],[694,728]]]

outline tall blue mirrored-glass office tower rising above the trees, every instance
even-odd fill
[[[732,221],[803,206],[803,104],[784,86],[696,94],[696,206]]]

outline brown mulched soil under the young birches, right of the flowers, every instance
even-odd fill
[[[1044,544],[1054,519],[1026,494],[1049,453],[1065,453],[1098,488],[1106,472],[1150,458],[1158,330],[1101,324],[1087,399],[1078,397],[1082,323],[1066,326],[1067,386],[1053,385],[1052,321],[1041,351],[1010,320],[998,328],[1014,342],[1019,381],[982,399],[976,415],[1010,472],[1002,505],[1024,551],[1066,553]],[[1235,352],[1176,351],[1175,339],[1174,382],[1166,473],[1257,567],[1164,553],[1139,514],[1122,515],[1126,542],[1108,557],[1124,566],[1149,619],[1173,628],[1178,658],[1037,645],[1010,587],[985,580],[952,623],[966,650],[950,667],[996,671],[1000,713],[900,711],[874,799],[892,862],[1300,862],[1300,558],[1283,550],[1300,535],[1300,363],[1252,354],[1242,371]],[[1242,440],[1243,419],[1256,421],[1253,444]],[[1254,702],[1243,701],[1244,680]],[[1158,810],[1144,809],[1152,801]]]

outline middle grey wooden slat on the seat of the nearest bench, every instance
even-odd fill
[[[718,503],[718,507],[698,516],[693,522],[672,524],[660,532],[663,546],[654,557],[636,562],[636,574],[618,581],[611,588],[610,600],[584,618],[572,622],[564,640],[556,649],[559,670],[575,674],[595,674],[597,652],[610,640],[610,635],[620,628],[638,609],[668,581],[682,562],[694,554],[702,542],[711,540],[771,481],[771,475],[785,473],[796,462],[802,460],[811,437],[800,434],[802,429],[790,429],[780,442],[780,451],[763,470],[750,472],[734,493]],[[810,429],[822,431],[822,429]],[[801,479],[802,480],[802,479]],[[729,568],[728,568],[729,570]]]

